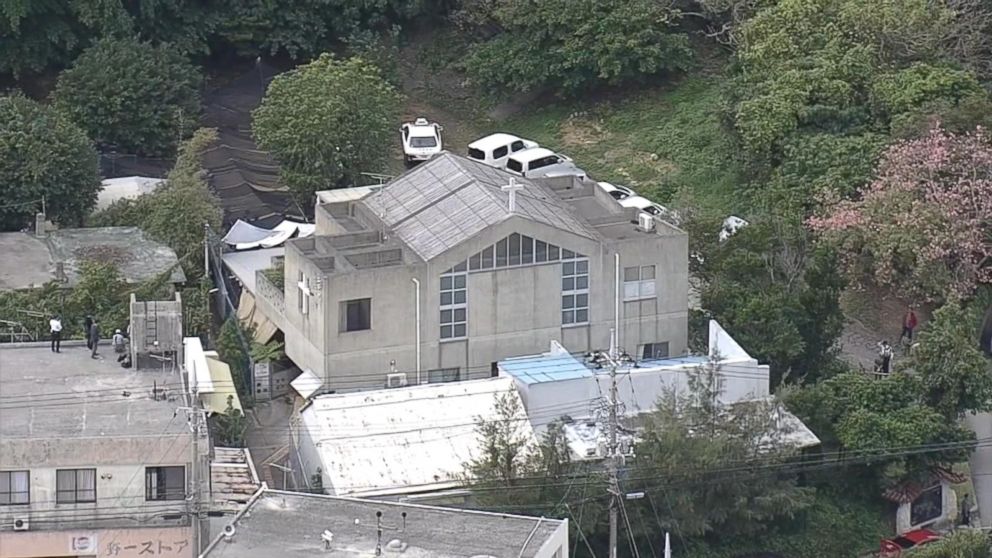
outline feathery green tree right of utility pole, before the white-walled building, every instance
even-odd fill
[[[798,486],[795,473],[782,467],[796,452],[775,419],[777,403],[721,403],[721,373],[719,359],[711,359],[690,373],[685,392],[661,397],[625,485],[661,495],[662,525],[684,536],[754,534],[812,502],[812,489]]]

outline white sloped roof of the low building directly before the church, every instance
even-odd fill
[[[498,377],[322,395],[300,414],[335,494],[425,492],[460,484],[479,451],[476,421],[496,418],[498,394],[519,398],[513,379]],[[520,409],[520,433],[533,441]]]

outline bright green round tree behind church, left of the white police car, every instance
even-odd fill
[[[258,144],[279,161],[301,205],[313,193],[381,169],[394,141],[400,94],[361,58],[329,54],[276,76],[253,113]]]

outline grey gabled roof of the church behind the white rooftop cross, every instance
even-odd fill
[[[589,239],[598,235],[547,187],[514,177],[523,186],[509,211],[500,189],[511,175],[451,153],[442,153],[362,200],[418,256],[431,260],[512,216]]]

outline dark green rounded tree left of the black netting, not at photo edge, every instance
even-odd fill
[[[200,82],[169,45],[102,39],[59,75],[54,101],[97,144],[161,156],[193,129]]]

